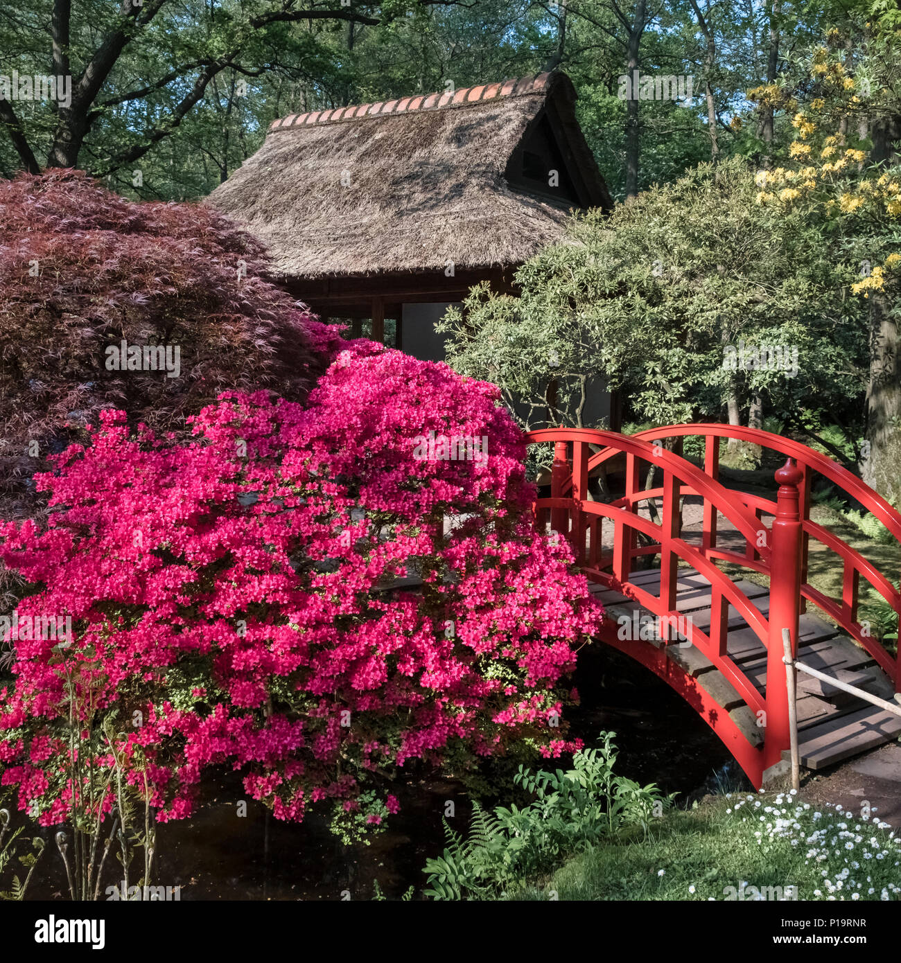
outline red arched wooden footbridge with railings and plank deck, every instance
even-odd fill
[[[688,436],[702,439],[702,467],[665,446]],[[788,755],[783,629],[800,662],[837,682],[887,700],[901,692],[897,653],[859,614],[861,588],[874,589],[896,613],[901,594],[860,552],[811,521],[811,483],[827,480],[898,541],[901,515],[835,461],[780,435],[729,425],[634,435],[544,429],[527,437],[554,443],[550,497],[536,502],[537,521],[570,540],[607,610],[602,640],[679,692],[755,787],[780,773]],[[784,456],[775,500],[720,481],[723,438]],[[618,482],[609,501],[589,495],[590,479],[600,475]],[[840,598],[809,584],[811,547],[830,553],[842,572]],[[808,768],[901,732],[901,717],[808,676],[799,681],[797,717]]]

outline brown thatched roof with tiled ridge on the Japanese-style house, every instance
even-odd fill
[[[507,267],[561,236],[570,204],[508,182],[527,132],[553,118],[592,205],[611,206],[575,91],[540,74],[276,120],[209,197],[285,277]]]

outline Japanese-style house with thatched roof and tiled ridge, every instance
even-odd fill
[[[562,73],[291,115],[209,198],[270,250],[313,310],[396,321],[434,356],[431,321],[472,284],[559,238],[572,208],[612,207]],[[433,342],[429,342],[429,335]]]

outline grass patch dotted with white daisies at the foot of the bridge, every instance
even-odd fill
[[[654,822],[647,841],[595,846],[520,898],[794,898],[787,887],[798,899],[901,896],[901,842],[878,816],[792,794],[729,794]]]

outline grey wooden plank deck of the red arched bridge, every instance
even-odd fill
[[[652,594],[659,593],[659,569],[634,572],[629,578]],[[733,581],[760,612],[766,614],[769,611],[769,592],[765,586],[757,586],[746,579]],[[643,611],[637,602],[618,591],[599,585],[593,586],[592,591],[614,625],[623,615],[632,619],[633,612]],[[703,632],[708,630],[710,584],[694,569],[679,569],[676,611],[690,616],[695,628]],[[884,699],[892,698],[893,687],[882,669],[830,622],[809,613],[803,614],[799,630],[799,660],[839,681]],[[634,644],[659,647],[663,642],[659,639],[638,640]],[[731,607],[727,651],[755,688],[763,692],[766,687],[766,649],[744,618]],[[757,745],[763,741],[754,713],[723,673],[698,648],[675,641],[666,646],[666,653],[729,713],[749,742]],[[889,742],[901,733],[901,717],[802,674],[798,677],[797,709],[801,765],[810,769],[831,766]],[[787,752],[784,755],[787,756]]]

